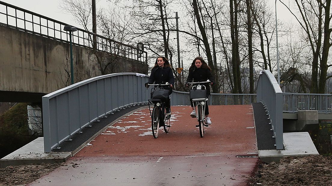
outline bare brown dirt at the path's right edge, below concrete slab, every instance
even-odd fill
[[[285,157],[260,163],[248,185],[332,185],[332,156]]]

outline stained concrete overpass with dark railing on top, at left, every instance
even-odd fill
[[[0,102],[41,102],[41,96],[68,86],[70,45],[69,34],[63,31],[67,24],[0,4],[24,14],[20,17],[0,9],[7,18],[0,19]],[[146,52],[100,35],[93,49],[90,36],[79,28],[74,32],[74,82],[102,73],[147,73]]]

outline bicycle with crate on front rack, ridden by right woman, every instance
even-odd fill
[[[207,81],[199,81],[199,82],[194,82],[194,83],[188,83],[188,84],[196,84],[195,86],[190,89],[190,99],[192,99],[193,105],[197,106],[197,111],[195,111],[196,118],[198,121],[198,125],[196,127],[200,128],[200,135],[201,137],[204,136],[204,126],[208,126],[205,122],[205,106],[207,103],[207,98],[206,98],[206,86],[201,85],[203,83],[211,83],[210,80]],[[202,89],[204,88],[204,89]]]

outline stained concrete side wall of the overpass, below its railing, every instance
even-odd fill
[[[70,84],[69,44],[17,29],[0,26],[0,91],[50,93]],[[103,54],[99,65],[94,52],[73,46],[74,81],[101,75],[114,59]],[[118,58],[106,73],[147,73],[148,65]]]

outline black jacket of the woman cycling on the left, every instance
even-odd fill
[[[160,68],[155,67],[151,70],[151,75],[149,77],[149,84],[153,84],[153,82],[155,82],[155,84],[165,84],[166,82],[168,82],[169,84],[172,84],[172,86],[174,86],[174,76],[173,76],[173,71],[170,67],[163,67]],[[164,86],[165,89],[170,89],[171,88],[169,86]]]

